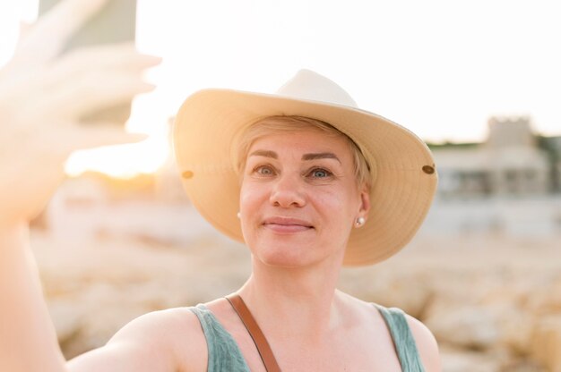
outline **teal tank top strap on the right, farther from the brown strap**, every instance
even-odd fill
[[[401,370],[403,372],[425,372],[405,313],[401,309],[388,309],[381,305],[374,305],[384,317],[385,324],[390,330],[393,346],[400,359]]]

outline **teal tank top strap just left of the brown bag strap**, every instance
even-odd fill
[[[231,334],[203,304],[189,308],[199,318],[209,353],[208,372],[249,372],[246,359]]]

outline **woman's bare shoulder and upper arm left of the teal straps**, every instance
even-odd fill
[[[107,345],[69,362],[71,371],[205,371],[207,348],[198,318],[186,308],[137,317]]]

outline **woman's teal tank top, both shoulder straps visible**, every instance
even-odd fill
[[[401,309],[375,305],[384,317],[403,372],[425,372],[419,351]],[[189,308],[199,318],[209,351],[208,372],[250,372],[246,359],[229,332],[203,304]]]

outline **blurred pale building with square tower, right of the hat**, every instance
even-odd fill
[[[528,197],[561,191],[561,137],[540,138],[527,116],[492,117],[484,143],[434,145],[439,198]]]

